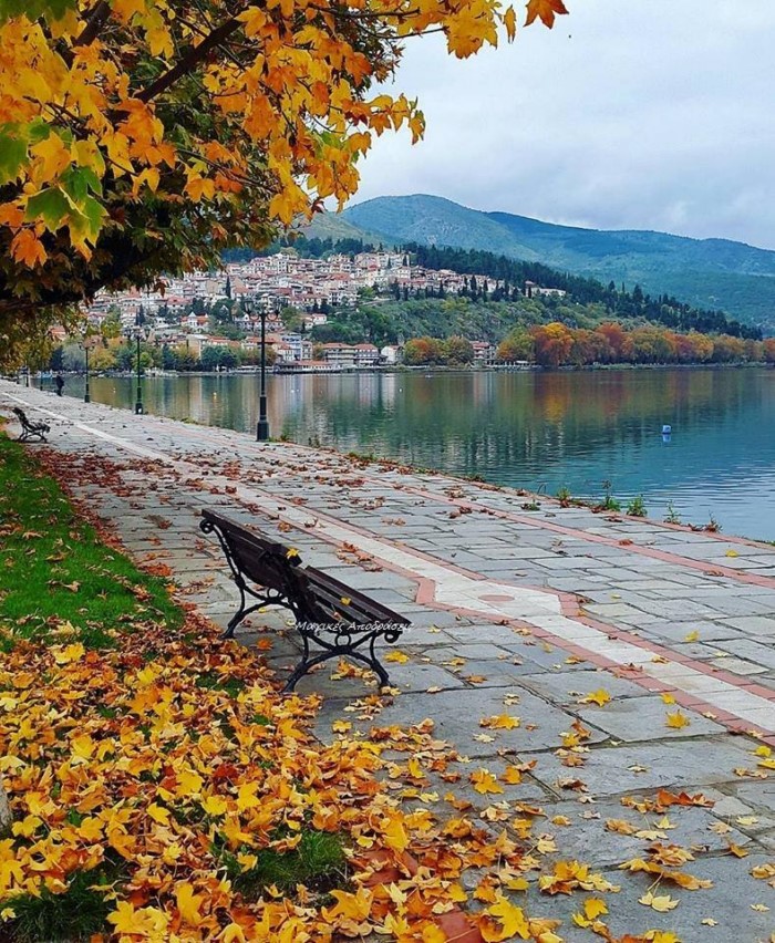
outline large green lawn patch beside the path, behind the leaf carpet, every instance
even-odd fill
[[[183,624],[165,580],[105,547],[59,484],[0,435],[0,646],[70,622],[89,647],[147,621]]]

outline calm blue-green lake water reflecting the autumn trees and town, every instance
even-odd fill
[[[391,456],[554,495],[642,494],[684,522],[775,540],[775,371],[639,370],[269,377],[275,437]],[[44,386],[46,384],[44,383]],[[254,375],[143,381],[146,411],[254,432]],[[92,381],[132,408],[133,381]],[[65,393],[83,395],[68,377]],[[663,424],[673,428],[663,441]]]

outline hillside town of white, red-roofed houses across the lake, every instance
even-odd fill
[[[327,311],[339,305],[353,305],[362,289],[376,293],[409,292],[431,289],[434,293],[459,294],[469,276],[448,270],[432,270],[411,265],[401,252],[360,252],[332,255],[324,259],[302,258],[294,251],[256,257],[230,263],[219,272],[190,272],[182,278],[167,278],[154,289],[122,293],[100,292],[89,309],[89,318],[100,324],[117,314],[127,330],[138,318],[151,327],[159,343],[185,345],[196,357],[210,348],[237,349],[244,353],[260,350],[260,322],[265,320],[267,344],[273,349],[280,370],[333,371],[371,369],[400,362],[401,349],[373,344],[330,343],[317,345],[307,332],[327,321]],[[498,282],[490,281],[494,290]],[[542,289],[533,282],[525,286],[527,297],[539,293],[564,293]],[[249,302],[249,303],[246,303]],[[211,331],[205,311],[218,303],[230,305],[232,322],[245,336],[232,340]],[[301,319],[302,331],[286,330],[283,315],[293,311]],[[489,344],[474,344],[477,363],[488,363],[495,355]]]

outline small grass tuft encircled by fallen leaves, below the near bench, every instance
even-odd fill
[[[339,835],[308,829],[291,851],[246,850],[258,859],[247,871],[229,851],[221,854],[227,878],[246,900],[257,900],[272,884],[286,894],[292,894],[297,884],[324,894],[345,883],[347,858]]]

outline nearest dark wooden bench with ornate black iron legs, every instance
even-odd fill
[[[378,639],[397,641],[411,624],[407,619],[314,567],[302,567],[298,550],[285,543],[208,509],[202,517],[199,528],[204,533],[215,531],[240,594],[224,638],[232,638],[244,619],[266,605],[281,605],[293,613],[303,647],[283,691],[292,691],[316,665],[338,657],[368,665],[383,686],[390,684],[374,645]],[[311,642],[322,651],[311,655]]]

